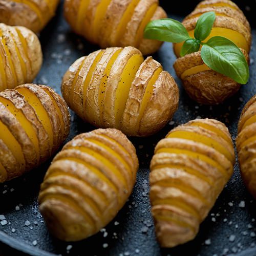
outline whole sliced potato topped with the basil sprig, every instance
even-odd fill
[[[204,42],[214,36],[226,37],[241,49],[249,63],[250,25],[239,7],[229,0],[206,0],[199,3],[182,22],[188,34],[194,37],[199,16],[210,11],[215,12],[216,20],[210,35]],[[201,58],[200,51],[180,57],[183,43],[174,44],[174,52],[178,57],[174,68],[192,99],[201,104],[219,104],[240,89],[241,84],[207,67]]]

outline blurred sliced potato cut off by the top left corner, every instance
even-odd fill
[[[40,32],[55,15],[60,0],[30,0],[27,3],[0,0],[0,22]]]

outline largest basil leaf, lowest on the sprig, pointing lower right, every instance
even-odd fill
[[[245,84],[249,79],[249,67],[242,51],[229,39],[215,36],[201,49],[204,63],[238,83]]]

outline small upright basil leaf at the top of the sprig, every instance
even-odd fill
[[[209,36],[212,27],[214,26],[215,19],[215,12],[206,12],[202,14],[197,21],[197,25],[194,32],[195,38],[201,41],[206,39]]]

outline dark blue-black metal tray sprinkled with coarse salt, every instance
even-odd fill
[[[173,1],[172,1],[173,2]],[[195,8],[198,1],[162,1],[169,17],[179,20]],[[255,24],[255,1],[241,1],[240,7]],[[250,15],[251,14],[251,15]],[[66,243],[53,238],[38,212],[37,196],[40,183],[50,165],[50,160],[27,175],[0,185],[0,215],[7,224],[0,225],[0,255],[87,255],[87,256],[167,256],[167,255],[256,255],[256,202],[247,193],[236,163],[234,175],[224,188],[209,216],[202,223],[196,239],[174,249],[161,249],[156,242],[148,199],[149,164],[156,143],[175,126],[194,118],[216,118],[227,124],[232,139],[237,135],[237,123],[244,104],[256,94],[256,30],[252,31],[253,47],[251,77],[239,93],[218,106],[201,106],[189,99],[177,78],[173,63],[172,44],[164,43],[154,55],[165,70],[179,83],[180,105],[173,121],[150,138],[131,138],[137,148],[140,168],[133,194],[117,217],[101,232],[81,242]],[[41,33],[44,65],[36,83],[49,84],[60,93],[61,78],[78,57],[97,50],[71,32],[62,17],[62,5],[57,16]],[[68,140],[75,135],[91,131],[91,125],[81,121],[74,113],[71,118]],[[67,140],[67,141],[68,141]],[[245,206],[245,207],[243,207]]]

